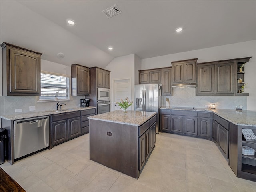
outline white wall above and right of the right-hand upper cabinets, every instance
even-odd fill
[[[170,67],[171,61],[191,58],[198,58],[198,63],[200,63],[249,56],[252,56],[252,58],[245,65],[245,82],[247,83],[245,91],[250,93],[247,96],[247,110],[256,111],[256,40],[146,58],[141,60],[141,68],[144,70],[157,67]],[[234,100],[238,99],[238,97],[241,96],[232,96]]]

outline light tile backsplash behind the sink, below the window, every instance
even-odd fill
[[[75,108],[79,107],[82,98],[84,96],[70,96],[70,101],[59,102],[66,104],[62,105],[62,108]],[[36,106],[36,111],[54,110],[57,102],[38,102],[38,96],[0,96],[0,114],[14,114],[15,109],[22,109],[22,113],[28,113],[29,106]]]

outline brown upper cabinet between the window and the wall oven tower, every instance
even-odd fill
[[[89,68],[78,64],[72,64],[71,90],[73,96],[90,94]]]

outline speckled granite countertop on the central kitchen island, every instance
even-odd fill
[[[124,114],[122,110],[116,110],[108,113],[90,116],[88,117],[88,119],[140,126],[144,122],[152,118],[155,114],[156,112],[148,111],[128,111],[127,114]]]

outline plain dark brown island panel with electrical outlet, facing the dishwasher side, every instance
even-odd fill
[[[138,126],[90,119],[90,160],[138,178]]]

